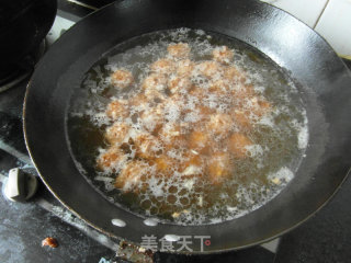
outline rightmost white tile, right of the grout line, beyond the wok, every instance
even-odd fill
[[[330,0],[315,28],[340,55],[351,55],[351,0]]]

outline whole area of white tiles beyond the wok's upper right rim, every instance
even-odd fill
[[[316,30],[342,56],[351,56],[351,0],[261,0]]]

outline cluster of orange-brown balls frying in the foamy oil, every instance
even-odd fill
[[[147,188],[152,176],[223,183],[235,173],[233,160],[251,158],[250,130],[271,110],[227,46],[202,61],[191,60],[186,43],[171,44],[167,52],[140,83],[123,68],[111,76],[115,89],[138,89],[107,105],[110,148],[97,159],[100,170],[116,175],[122,192]]]

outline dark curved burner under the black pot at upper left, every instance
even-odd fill
[[[16,64],[11,70],[0,76],[0,92],[3,92],[12,87],[15,87],[23,80],[27,79],[33,70],[35,64],[44,55],[46,50],[46,39],[44,39],[41,45],[34,49],[30,55],[24,57],[22,61]]]

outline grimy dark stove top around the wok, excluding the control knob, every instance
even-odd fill
[[[53,44],[82,16],[111,0],[60,0],[46,43]],[[346,60],[349,68],[351,62]],[[0,93],[0,185],[9,170],[35,174],[22,132],[22,104],[29,77]],[[303,226],[269,243],[215,255],[155,254],[155,262],[349,262],[351,258],[351,179],[335,198]],[[126,262],[116,255],[118,240],[98,232],[56,201],[39,184],[34,198],[13,203],[0,194],[0,262]],[[56,249],[42,247],[46,237],[57,239]]]

